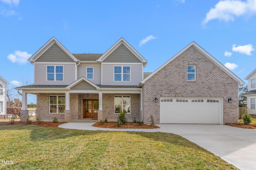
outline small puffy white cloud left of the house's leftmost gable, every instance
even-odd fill
[[[27,62],[27,59],[31,57],[31,54],[28,54],[26,51],[14,51],[14,54],[9,54],[8,59],[12,63],[19,63],[19,64],[25,64]]]

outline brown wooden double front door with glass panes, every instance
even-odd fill
[[[98,118],[99,100],[84,100],[84,118]]]

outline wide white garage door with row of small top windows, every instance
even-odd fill
[[[222,124],[221,98],[160,98],[160,123]]]

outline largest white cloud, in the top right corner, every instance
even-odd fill
[[[234,16],[256,14],[256,0],[220,0],[214,8],[206,14],[203,23],[210,20],[219,19],[224,21],[234,21]]]

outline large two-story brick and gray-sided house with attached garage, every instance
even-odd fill
[[[244,82],[195,42],[152,73],[144,73],[146,59],[124,38],[104,54],[72,54],[52,37],[28,61],[34,84],[16,88],[22,90],[22,121],[28,93],[37,95],[37,113],[46,121],[116,121],[120,109],[144,123],[150,115],[155,123],[238,121]]]

